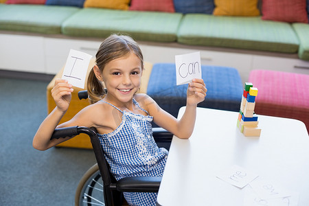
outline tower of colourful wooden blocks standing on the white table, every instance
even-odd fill
[[[258,128],[258,116],[254,113],[255,97],[258,89],[251,82],[244,83],[244,93],[240,104],[237,126],[246,137],[260,137],[261,129]]]

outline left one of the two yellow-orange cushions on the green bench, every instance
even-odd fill
[[[129,3],[130,0],[86,0],[84,1],[84,7],[128,10]]]

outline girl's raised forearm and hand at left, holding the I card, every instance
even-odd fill
[[[56,108],[50,113],[45,120],[42,122],[41,126],[38,128],[32,145],[37,150],[47,150],[56,144],[59,144],[66,139],[52,139],[52,133],[65,115],[67,108],[71,102],[71,92],[73,91],[72,85],[67,83],[67,80],[56,80],[55,86],[52,89],[52,97],[56,102]]]

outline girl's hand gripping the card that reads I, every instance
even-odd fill
[[[72,85],[67,80],[57,79],[52,89],[52,97],[60,111],[67,111],[71,102]]]

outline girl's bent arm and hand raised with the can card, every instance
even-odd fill
[[[205,100],[206,92],[207,89],[205,88],[203,79],[192,80],[187,89],[185,113],[183,113],[183,116],[179,120],[166,111],[163,111],[151,98],[149,98],[150,102],[147,102],[148,111],[154,117],[154,122],[158,126],[170,131],[176,137],[188,139],[194,129],[197,104]]]

